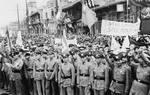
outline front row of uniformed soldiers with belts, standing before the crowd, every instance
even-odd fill
[[[126,52],[112,52],[36,47],[3,55],[2,71],[13,95],[149,95],[149,48],[131,45]]]

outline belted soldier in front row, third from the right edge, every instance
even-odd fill
[[[109,68],[102,53],[97,52],[94,57],[96,63],[91,72],[94,95],[105,95],[109,87]]]

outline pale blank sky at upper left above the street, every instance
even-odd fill
[[[37,6],[42,6],[47,0],[34,1],[37,2]],[[25,0],[0,0],[0,28],[6,27],[10,22],[17,21],[17,5],[19,9],[19,17],[20,20],[22,20],[26,14]]]

